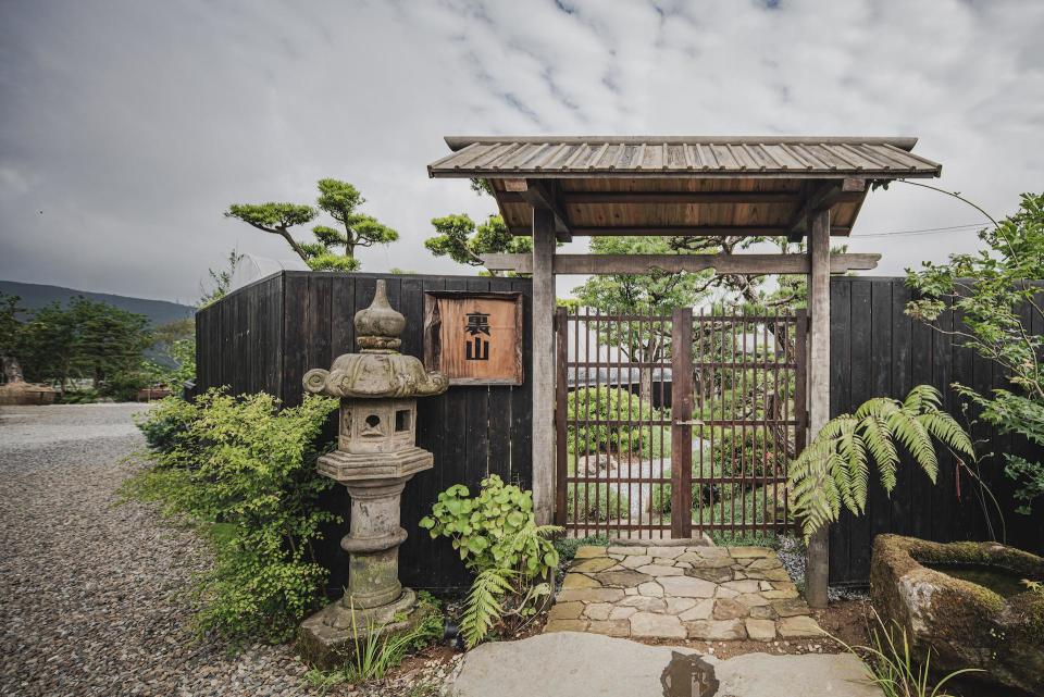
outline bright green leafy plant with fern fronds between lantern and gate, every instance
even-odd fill
[[[533,494],[505,485],[497,475],[482,481],[475,498],[462,484],[438,495],[420,525],[432,538],[449,537],[476,575],[468,595],[461,633],[469,647],[497,625],[520,628],[550,595],[545,581],[558,567],[549,537],[561,528],[536,524]]]

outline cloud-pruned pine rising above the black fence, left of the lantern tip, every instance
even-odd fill
[[[356,249],[387,245],[399,234],[377,219],[357,209],[365,199],[355,186],[339,179],[320,179],[318,209],[300,203],[233,203],[225,211],[264,233],[278,235],[304,263],[316,271],[355,271],[359,269]],[[320,211],[330,215],[337,227],[316,225],[312,228],[314,241],[301,242],[290,229],[310,223]]]

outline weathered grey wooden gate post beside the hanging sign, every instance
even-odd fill
[[[555,514],[555,215],[533,208],[533,510]]]

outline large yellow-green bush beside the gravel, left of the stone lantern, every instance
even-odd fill
[[[312,543],[338,521],[316,498],[332,483],[315,473],[314,444],[337,401],[308,396],[279,409],[259,393],[210,390],[195,404],[164,400],[142,431],[157,443],[156,464],[125,487],[198,523],[214,549],[197,578],[196,622],[231,639],[289,639],[323,599],[326,570]]]

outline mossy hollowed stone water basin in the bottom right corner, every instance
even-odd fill
[[[931,650],[939,671],[981,668],[998,683],[1044,694],[1044,594],[1004,598],[925,563],[981,565],[1041,581],[1044,559],[995,543],[878,535],[870,570],[874,609],[906,632],[919,660]]]

